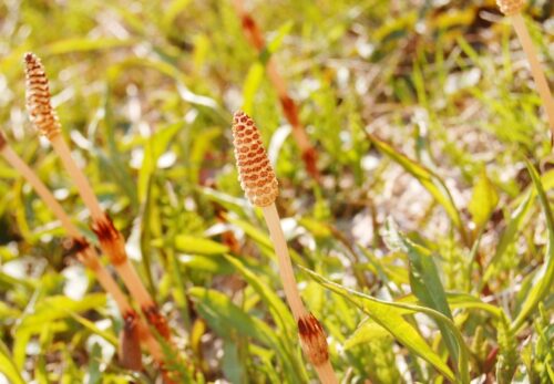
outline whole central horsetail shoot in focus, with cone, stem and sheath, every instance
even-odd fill
[[[321,383],[338,383],[329,361],[324,328],[306,309],[298,292],[287,242],[280,227],[275,200],[279,194],[277,177],[267,157],[254,121],[238,111],[233,117],[233,144],[240,186],[250,203],[263,209],[264,218],[279,263],[279,276],[290,311],[298,325],[300,345],[314,365]]]

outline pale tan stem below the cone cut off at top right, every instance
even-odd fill
[[[552,98],[552,93],[548,87],[548,82],[544,75],[541,62],[538,61],[538,55],[536,54],[536,49],[533,45],[533,41],[529,34],[527,28],[525,27],[525,20],[521,13],[514,14],[512,18],[512,24],[514,25],[515,33],[520,39],[523,51],[527,55],[527,60],[531,66],[531,74],[536,84],[536,91],[543,101],[543,106],[548,118],[550,129],[554,137],[554,100]]]

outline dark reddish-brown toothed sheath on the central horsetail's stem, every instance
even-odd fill
[[[325,364],[329,360],[329,347],[321,323],[309,313],[298,320],[298,333],[304,353],[311,364]]]

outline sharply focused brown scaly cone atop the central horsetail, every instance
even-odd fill
[[[233,117],[233,137],[238,179],[254,206],[267,207],[279,195],[277,177],[254,121],[242,111]]]

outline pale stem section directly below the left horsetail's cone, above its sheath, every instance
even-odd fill
[[[50,142],[58,156],[60,156],[63,166],[75,181],[75,185],[79,189],[79,194],[81,195],[84,204],[91,211],[92,220],[96,221],[103,218],[104,212],[100,207],[99,200],[96,199],[96,195],[94,195],[94,191],[92,190],[81,168],[79,168],[75,162],[73,160],[68,144],[63,139],[62,135],[61,134],[55,135],[54,137],[52,137]]]

